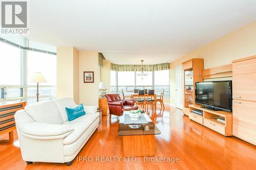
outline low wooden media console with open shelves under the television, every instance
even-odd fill
[[[202,110],[203,115],[191,112],[191,110]],[[219,122],[215,117],[224,117],[224,122]],[[189,119],[210,128],[225,136],[232,136],[232,113],[227,111],[214,111],[202,108],[201,105],[189,105]]]

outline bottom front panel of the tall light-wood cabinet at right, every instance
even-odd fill
[[[233,135],[256,145],[256,131],[233,124]]]

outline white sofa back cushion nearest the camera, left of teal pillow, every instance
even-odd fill
[[[63,124],[60,111],[53,101],[43,101],[29,104],[25,111],[35,122],[48,124]]]

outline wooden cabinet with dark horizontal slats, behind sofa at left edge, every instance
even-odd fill
[[[13,131],[15,128],[14,114],[24,109],[26,102],[2,102],[0,103],[0,135],[9,133],[9,140],[2,140],[1,143],[13,142]]]

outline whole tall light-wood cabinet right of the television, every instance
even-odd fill
[[[256,145],[256,56],[232,61],[233,135]]]

